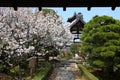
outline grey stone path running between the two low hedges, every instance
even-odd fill
[[[80,71],[74,61],[63,60],[54,69],[49,80],[85,80],[80,77]]]

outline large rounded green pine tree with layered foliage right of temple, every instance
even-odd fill
[[[120,21],[108,16],[95,16],[83,29],[81,49],[88,63],[106,71],[116,71],[120,64]],[[116,69],[116,70],[115,70]]]

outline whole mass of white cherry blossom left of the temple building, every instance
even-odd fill
[[[41,47],[63,47],[71,38],[62,17],[52,10],[0,8],[0,63],[7,66],[19,64]]]

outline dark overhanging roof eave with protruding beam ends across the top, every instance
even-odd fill
[[[112,7],[115,10],[116,7],[120,7],[119,0],[0,0],[0,7],[13,7],[17,10],[17,7],[87,7],[90,10],[91,7]]]

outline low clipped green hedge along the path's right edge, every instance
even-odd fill
[[[83,75],[88,80],[99,80],[97,77],[95,77],[92,73],[90,73],[83,65],[78,64],[79,69],[82,71]]]

